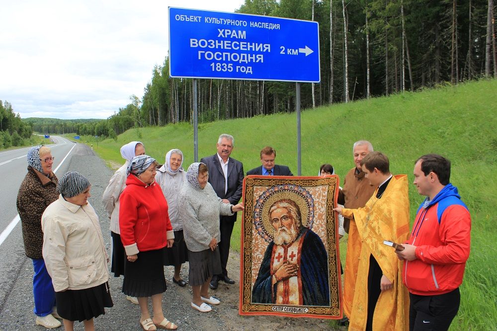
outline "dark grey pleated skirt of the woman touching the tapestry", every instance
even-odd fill
[[[219,248],[201,251],[188,251],[190,270],[188,283],[191,286],[203,285],[213,275],[223,272]]]

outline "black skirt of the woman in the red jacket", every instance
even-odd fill
[[[134,262],[126,261],[123,293],[132,297],[151,297],[167,289],[164,277],[163,248],[141,251]]]

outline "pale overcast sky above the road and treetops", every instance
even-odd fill
[[[143,96],[168,50],[167,7],[244,0],[2,1],[0,99],[21,118],[107,118]]]

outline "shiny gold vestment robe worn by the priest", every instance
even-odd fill
[[[383,244],[384,240],[404,243],[409,235],[409,194],[407,175],[390,179],[383,195],[373,196],[363,208],[342,211],[343,216],[354,218],[362,241],[352,314],[349,330],[365,330],[368,313],[369,256],[373,254],[383,274],[393,283],[390,290],[382,291],[373,316],[373,330],[409,330],[409,292],[402,283],[402,261],[395,249]]]

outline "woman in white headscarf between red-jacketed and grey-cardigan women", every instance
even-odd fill
[[[184,287],[186,282],[181,279],[179,273],[181,264],[188,261],[188,248],[183,237],[183,222],[178,213],[179,191],[186,178],[182,164],[183,153],[177,149],[170,150],[166,154],[166,163],[157,169],[156,181],[166,197],[169,219],[174,230],[174,244],[171,248],[164,249],[164,265],[174,266],[172,281]]]

